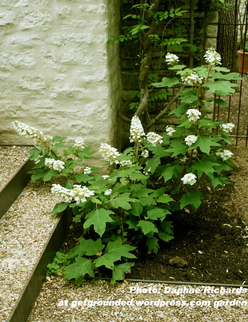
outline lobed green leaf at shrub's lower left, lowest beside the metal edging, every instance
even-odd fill
[[[94,277],[94,266],[92,265],[91,260],[78,257],[76,258],[75,263],[66,267],[65,280],[75,279],[77,285],[80,285],[84,280],[84,275],[89,274],[91,277]]]

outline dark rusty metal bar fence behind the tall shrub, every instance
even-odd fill
[[[245,9],[241,11],[241,3]],[[226,99],[226,107],[222,107],[214,103],[213,117],[215,120],[224,120],[227,123],[231,122],[235,124],[235,131],[233,131],[230,137],[235,138],[235,144],[237,146],[239,139],[245,140],[245,146],[248,142],[248,50],[245,51],[246,34],[248,29],[247,16],[248,16],[248,0],[242,2],[235,0],[235,20],[233,22],[218,23],[217,33],[217,52],[223,57],[223,48],[228,46],[229,62],[222,61],[224,67],[228,67],[231,72],[239,72],[243,77],[242,81],[235,81],[239,84],[239,87],[235,88],[235,93]],[[243,15],[242,15],[243,14]],[[228,29],[229,28],[229,29]],[[233,32],[233,37],[226,39],[225,35]],[[242,34],[238,30],[241,30]],[[228,43],[226,43],[228,41]],[[237,46],[242,45],[242,48],[238,50]],[[218,96],[219,98],[219,96]],[[223,99],[223,98],[222,98]]]

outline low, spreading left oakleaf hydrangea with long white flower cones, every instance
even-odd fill
[[[148,188],[150,169],[145,170],[146,161],[153,148],[162,146],[163,137],[155,132],[145,134],[137,116],[132,118],[129,147],[123,153],[107,143],[102,143],[99,152],[103,165],[115,164],[109,175],[93,174],[96,168],[85,165],[94,151],[85,147],[78,138],[73,147],[65,148],[65,137],[49,137],[43,133],[13,122],[21,135],[34,139],[36,147],[30,156],[36,164],[31,170],[32,179],[64,175],[65,185],[52,184],[51,193],[60,199],[52,214],[61,212],[67,206],[73,209],[74,221],[82,222],[84,235],[70,253],[57,253],[48,272],[65,273],[65,279],[75,279],[81,284],[84,275],[94,276],[94,271],[104,266],[112,270],[112,282],[123,279],[136,258],[135,250],[143,243],[148,253],[157,252],[159,240],[168,242],[173,238],[173,226],[165,217],[170,214],[173,199],[165,194],[165,188]],[[30,135],[31,133],[31,135]],[[37,133],[34,136],[33,133]],[[82,173],[74,167],[82,166]],[[92,172],[91,172],[92,170]],[[91,172],[91,173],[90,173]],[[65,263],[68,263],[65,267]],[[59,266],[59,264],[61,264]]]

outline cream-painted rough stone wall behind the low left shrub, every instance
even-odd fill
[[[44,134],[118,145],[119,0],[0,0],[0,144],[28,144],[11,122]]]

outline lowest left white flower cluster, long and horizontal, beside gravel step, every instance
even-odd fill
[[[51,192],[60,198],[61,201],[71,202],[74,199],[77,204],[87,201],[86,198],[94,195],[94,190],[90,191],[87,187],[82,187],[81,185],[74,185],[72,190],[53,184]]]

